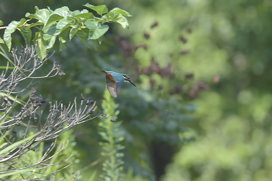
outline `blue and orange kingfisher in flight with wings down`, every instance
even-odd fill
[[[127,74],[105,70],[102,70],[102,72],[106,75],[107,89],[112,97],[117,98],[120,88],[124,82],[130,82],[133,86],[135,86]]]

